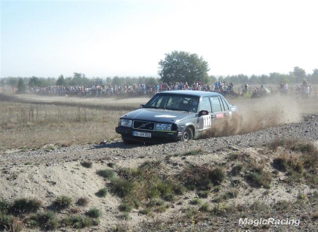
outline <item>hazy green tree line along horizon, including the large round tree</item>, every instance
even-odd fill
[[[60,75],[57,79],[48,77],[6,77],[1,78],[1,85],[7,84],[13,87],[25,88],[28,86],[33,87],[46,87],[46,86],[86,86],[86,85],[117,85],[117,86],[132,86],[133,84],[145,84],[145,85],[156,85],[158,82],[163,83],[175,83],[175,82],[187,82],[188,85],[201,82],[203,84],[213,84],[217,80],[224,80],[227,83],[232,82],[233,84],[243,84],[247,82],[249,84],[280,84],[284,83],[302,83],[303,79],[306,79],[309,84],[318,84],[318,69],[314,69],[313,73],[306,73],[304,69],[294,67],[294,70],[288,74],[272,72],[269,75],[228,75],[228,76],[209,76],[208,63],[199,57],[195,53],[189,53],[185,51],[172,51],[166,53],[165,58],[159,61],[157,77],[119,77],[114,76],[113,78],[107,77],[101,79],[99,77],[88,78],[84,73],[74,72],[71,77],[64,77]],[[19,89],[19,88],[18,88]]]

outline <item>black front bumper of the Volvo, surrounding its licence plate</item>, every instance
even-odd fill
[[[158,132],[158,131],[145,131],[138,130],[129,127],[118,126],[115,128],[116,133],[121,135],[122,139],[137,141],[137,142],[148,142],[148,143],[161,143],[177,141],[182,138],[182,133],[178,132]],[[151,138],[133,136],[133,131],[150,133]]]

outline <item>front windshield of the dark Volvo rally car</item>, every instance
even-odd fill
[[[196,113],[199,104],[199,97],[188,95],[155,95],[147,102],[145,108],[178,110]]]

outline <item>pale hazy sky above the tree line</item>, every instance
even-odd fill
[[[318,68],[317,0],[5,1],[0,76],[157,75],[165,53],[209,74]]]

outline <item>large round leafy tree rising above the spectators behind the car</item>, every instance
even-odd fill
[[[189,85],[201,81],[207,83],[208,64],[203,57],[185,51],[166,53],[159,61],[158,74],[163,82],[187,82]]]

